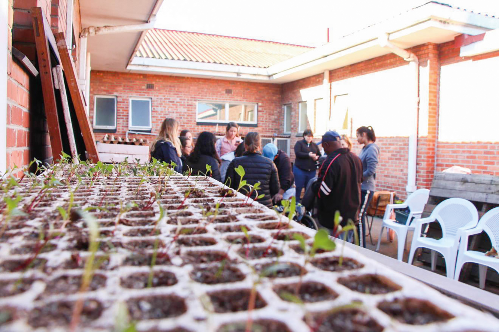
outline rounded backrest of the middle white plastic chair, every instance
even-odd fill
[[[431,217],[442,226],[442,237],[454,238],[458,229],[470,229],[478,224],[477,208],[463,198],[446,199],[433,209]]]

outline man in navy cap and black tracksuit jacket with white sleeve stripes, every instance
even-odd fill
[[[341,226],[351,219],[359,221],[360,184],[362,183],[362,162],[359,157],[342,148],[340,135],[327,131],[322,136],[322,147],[327,154],[313,186],[318,205],[319,223],[328,229],[334,228],[334,214],[339,211]]]

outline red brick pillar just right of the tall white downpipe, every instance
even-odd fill
[[[437,44],[428,43],[424,51],[428,58],[428,135],[418,138],[418,165],[416,185],[430,188],[435,174],[436,142],[438,139],[438,114],[440,93],[440,59]],[[420,128],[421,131],[422,128]]]

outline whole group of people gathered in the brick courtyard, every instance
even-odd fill
[[[352,220],[365,247],[365,210],[375,190],[379,147],[374,143],[372,127],[360,127],[356,134],[357,142],[364,145],[359,156],[350,151],[352,144],[346,135],[327,131],[315,144],[312,131],[307,129],[303,140],[294,146],[296,159],[291,166],[289,156],[274,144],[261,146],[258,132],[249,132],[241,139],[235,122],[227,125],[226,134],[219,139],[203,131],[193,147],[191,132],[180,132],[179,123],[167,118],[151,146],[151,157],[173,161],[175,171],[193,175],[205,174],[206,165],[210,165],[211,176],[234,189],[238,189],[241,181],[235,169],[243,166],[244,180],[251,186],[260,183],[252,197],[263,194],[258,202],[268,207],[292,196],[300,202],[302,190],[315,178],[319,167],[317,181],[310,189],[317,199],[319,223],[332,230],[334,213],[339,211],[343,218],[341,225]],[[322,145],[323,156],[318,145]]]

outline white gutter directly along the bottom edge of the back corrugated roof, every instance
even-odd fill
[[[131,65],[165,67],[184,70],[206,70],[222,73],[249,74],[258,76],[268,76],[266,68],[237,66],[232,64],[206,63],[185,60],[152,59],[135,56]]]

